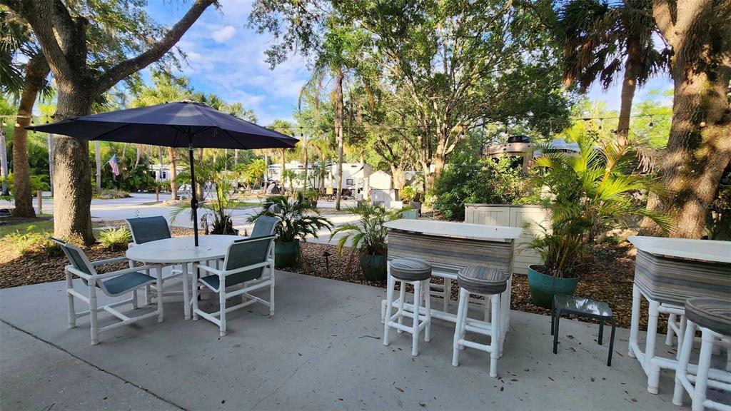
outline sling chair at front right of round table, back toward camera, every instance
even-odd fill
[[[276,235],[273,235],[274,227],[276,224],[270,227],[269,235],[233,241],[226,252],[222,270],[194,263],[193,320],[197,320],[198,316],[203,317],[218,325],[219,335],[225,336],[227,314],[234,310],[253,303],[262,303],[269,307],[269,315],[274,315],[274,238],[276,238]],[[198,269],[203,275],[200,278],[197,274]],[[198,308],[199,284],[218,293],[218,312],[208,313]],[[243,287],[228,290],[239,285]],[[251,294],[265,287],[269,287],[269,301]],[[246,300],[227,308],[226,299],[237,295],[242,295]]]

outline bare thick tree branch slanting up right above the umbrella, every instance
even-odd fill
[[[167,53],[173,48],[178,40],[183,37],[183,34],[188,31],[190,26],[195,23],[195,20],[213,3],[216,3],[216,0],[196,0],[190,7],[190,10],[183,15],[183,18],[178,20],[178,23],[175,23],[175,26],[162,39],[152,45],[151,48],[132,59],[122,61],[99,77],[99,80],[96,82],[96,94],[102,94],[120,80],[159,60],[164,53]]]

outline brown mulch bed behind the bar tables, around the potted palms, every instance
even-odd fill
[[[632,281],[635,277],[635,255],[632,246],[628,243],[621,245],[597,244],[592,249],[590,261],[581,270],[581,279],[575,295],[607,301],[617,325],[629,328],[632,314]],[[327,270],[323,252],[329,252],[330,269]],[[338,255],[335,246],[328,244],[303,243],[303,265],[301,267],[284,268],[299,274],[307,274],[322,278],[337,279],[356,284],[366,284],[374,287],[386,287],[386,282],[371,282],[363,279],[360,262],[357,254]],[[433,282],[442,283],[441,279]],[[410,286],[409,286],[410,287]],[[452,300],[456,301],[458,288],[456,282],[452,284]],[[549,309],[535,306],[531,301],[527,276],[516,274],[512,281],[512,299],[510,306],[514,310],[532,312],[535,314],[550,315]],[[647,301],[643,301],[640,311],[640,329],[647,329]],[[585,318],[582,321],[595,322]],[[661,316],[658,321],[658,331],[667,330],[667,317]]]

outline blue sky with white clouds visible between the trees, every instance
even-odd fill
[[[187,55],[183,74],[190,78],[197,91],[216,93],[227,102],[241,102],[257,113],[260,124],[275,118],[292,119],[297,108],[300,88],[309,78],[306,61],[293,56],[270,70],[264,62],[264,51],[270,36],[246,28],[246,19],[253,0],[220,0],[219,10],[205,11],[183,36],[178,47]],[[149,2],[148,12],[159,23],[172,26],[186,12],[189,2]],[[588,95],[607,103],[607,109],[618,110],[621,83],[607,91],[594,86]],[[655,78],[637,91],[640,102],[654,89],[672,88],[667,78]]]

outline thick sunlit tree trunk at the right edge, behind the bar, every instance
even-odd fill
[[[674,219],[671,236],[701,238],[708,206],[731,161],[731,10],[710,0],[655,0],[653,6],[674,50],[674,94],[670,137],[659,161],[663,191],[651,196],[648,208]],[[650,222],[643,228],[657,233]]]

